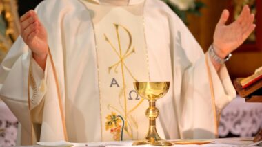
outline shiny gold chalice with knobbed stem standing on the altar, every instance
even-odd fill
[[[134,89],[149,102],[149,107],[145,115],[149,119],[148,134],[143,141],[134,142],[132,145],[150,144],[154,146],[171,146],[172,143],[161,139],[157,133],[156,119],[159,115],[159,109],[156,107],[156,101],[162,98],[168,92],[170,82],[134,82]]]

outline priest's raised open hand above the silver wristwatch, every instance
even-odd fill
[[[225,58],[225,56],[239,47],[256,27],[253,23],[254,14],[250,13],[248,5],[243,7],[236,21],[225,25],[228,17],[228,10],[223,10],[214,31],[214,52],[221,58]]]

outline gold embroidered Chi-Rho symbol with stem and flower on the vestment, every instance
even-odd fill
[[[139,107],[141,105],[141,103],[143,102],[142,100],[139,100],[139,102],[132,107],[132,109],[128,109],[128,97],[127,97],[127,89],[126,89],[126,75],[124,70],[128,71],[129,76],[132,77],[132,79],[134,79],[134,81],[137,81],[137,78],[134,77],[134,75],[132,74],[132,71],[129,69],[128,65],[125,64],[125,60],[132,56],[132,54],[135,54],[135,47],[133,46],[133,40],[132,40],[132,34],[130,32],[130,30],[128,30],[127,27],[120,25],[118,23],[114,23],[114,29],[116,30],[116,34],[117,34],[117,45],[114,45],[111,41],[111,39],[108,37],[107,34],[103,34],[105,41],[110,45],[112,51],[116,54],[116,56],[119,58],[119,60],[117,60],[116,63],[114,63],[113,65],[111,65],[110,67],[108,67],[108,73],[110,72],[114,72],[114,73],[119,73],[122,76],[122,82],[123,82],[123,89],[121,91],[121,93],[119,93],[119,105],[121,106],[121,109],[123,109],[123,113],[121,113],[121,110],[117,109],[115,106],[111,106],[108,105],[108,107],[110,109],[114,109],[115,111],[117,111],[119,113],[119,116],[123,116],[123,127],[124,127],[124,131],[125,133],[130,137],[133,138],[133,128],[132,126],[137,126],[137,121],[132,119],[132,111],[134,111],[135,109],[137,109],[137,107]],[[123,30],[127,36],[128,36],[128,46],[126,49],[123,49],[123,47],[121,47],[121,35],[119,34],[119,30]],[[119,72],[119,69],[121,69],[121,71]],[[123,98],[123,104],[121,102],[121,99]],[[115,113],[114,113],[115,114]],[[106,117],[107,119],[109,119],[110,117],[116,117],[112,113],[112,115],[108,115],[108,117]],[[117,119],[120,120],[120,117],[117,117]],[[122,122],[122,121],[120,121]],[[111,122],[107,121],[105,123],[105,130],[107,131],[109,128],[118,128],[118,126],[110,126]],[[137,129],[137,127],[136,127]],[[119,137],[114,137],[114,139],[119,140]],[[123,133],[121,133],[121,140],[123,139]]]

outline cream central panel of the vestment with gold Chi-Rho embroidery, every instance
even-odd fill
[[[149,80],[144,3],[85,5],[97,48],[102,140],[142,139],[148,131],[148,102],[139,98],[133,82]]]

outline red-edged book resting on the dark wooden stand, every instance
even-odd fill
[[[254,82],[259,81],[261,79],[262,79],[262,67],[259,67],[259,69],[256,69],[254,74],[248,76],[247,78],[243,78],[243,80],[240,81],[240,84],[241,87],[245,89],[250,85],[254,84]]]

